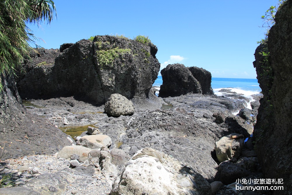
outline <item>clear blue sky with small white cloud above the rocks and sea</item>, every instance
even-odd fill
[[[57,20],[34,25],[37,42],[59,48],[95,35],[149,36],[161,69],[182,63],[212,77],[256,78],[257,41],[265,37],[261,15],[277,0],[54,0]],[[160,75],[160,73],[159,73]]]

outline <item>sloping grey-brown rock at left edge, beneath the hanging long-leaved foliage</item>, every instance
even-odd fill
[[[2,75],[1,82],[1,160],[29,154],[53,154],[63,146],[71,145],[65,133],[24,108],[13,77]]]

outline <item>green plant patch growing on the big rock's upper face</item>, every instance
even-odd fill
[[[114,60],[116,58],[119,58],[120,56],[128,53],[131,53],[131,49],[120,49],[119,47],[110,47],[109,42],[101,42],[97,41],[95,42],[96,46],[99,50],[96,51],[96,56],[98,58],[98,62],[100,63],[101,67],[103,65],[112,65],[114,63]]]

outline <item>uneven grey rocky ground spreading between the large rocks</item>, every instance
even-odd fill
[[[45,118],[50,125],[64,127],[62,130],[72,137],[88,134],[88,126],[97,127],[101,134],[108,135],[112,140],[109,150],[103,150],[109,152],[119,148],[124,156],[121,162],[114,163],[114,168],[88,161],[77,162],[77,166],[73,168],[74,157],[58,158],[58,153],[52,156],[37,154],[12,158],[1,161],[0,177],[4,178],[11,173],[13,184],[18,186],[11,188],[16,194],[19,191],[27,191],[27,194],[37,194],[40,191],[47,194],[109,194],[114,180],[121,177],[125,168],[131,164],[128,160],[136,151],[150,147],[179,160],[212,183],[218,174],[219,163],[214,156],[215,142],[230,133],[243,134],[246,138],[252,132],[254,117],[249,115],[244,119],[244,114],[241,117],[232,115],[246,106],[244,100],[238,94],[226,94],[222,97],[190,94],[160,98],[164,104],[159,107],[152,105],[152,109],[145,110],[142,109],[145,105],[143,107],[134,103],[135,113],[120,117],[104,113],[104,106],[77,101],[73,97],[31,100],[25,102],[28,111]],[[257,103],[252,105],[254,109],[250,112],[254,115]],[[85,130],[81,128],[74,132],[71,128],[74,126],[85,126]],[[253,156],[250,149],[246,148],[249,153],[245,155]],[[109,171],[114,174],[109,175]],[[246,177],[260,177],[259,174],[260,167],[256,167]],[[234,191],[230,187],[232,186],[222,185],[217,189],[217,194],[248,194],[246,191]],[[6,193],[3,188],[1,190],[2,194]],[[9,193],[11,191],[6,194]]]

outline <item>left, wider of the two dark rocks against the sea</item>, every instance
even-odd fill
[[[183,64],[169,64],[161,70],[163,84],[159,97],[174,97],[188,93],[201,94],[202,87],[191,71]]]

